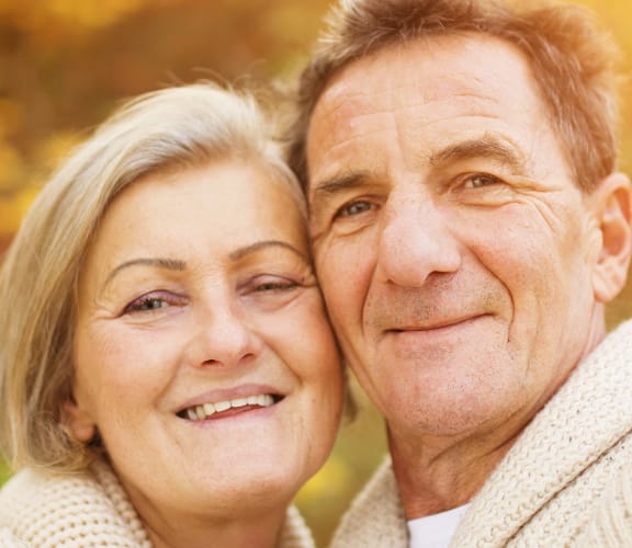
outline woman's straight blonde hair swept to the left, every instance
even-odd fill
[[[272,128],[250,94],[165,89],[121,107],[45,185],[0,270],[0,444],[14,469],[78,470],[91,459],[66,432],[61,406],[71,397],[79,272],[114,196],[148,173],[237,157],[286,180],[304,207]]]

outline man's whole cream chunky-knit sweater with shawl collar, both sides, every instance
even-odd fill
[[[524,429],[472,500],[451,546],[632,546],[631,466],[628,321]],[[331,547],[407,546],[406,518],[386,459],[343,516]]]

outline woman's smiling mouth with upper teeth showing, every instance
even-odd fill
[[[229,390],[213,390],[200,395],[176,411],[180,419],[198,422],[232,416],[246,411],[264,409],[284,398],[278,389],[261,385],[244,385]]]

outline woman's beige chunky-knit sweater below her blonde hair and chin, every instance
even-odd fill
[[[208,546],[214,546],[210,539]],[[94,463],[86,473],[24,469],[0,491],[0,548],[150,548],[136,511],[112,469]],[[313,548],[290,507],[281,548]]]

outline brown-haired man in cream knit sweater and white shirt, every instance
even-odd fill
[[[632,247],[611,61],[571,5],[332,12],[292,161],[392,457],[334,546],[567,545],[631,460],[632,324],[603,320]]]

